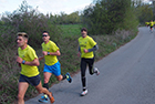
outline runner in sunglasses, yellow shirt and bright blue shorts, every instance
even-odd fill
[[[42,43],[42,54],[43,56],[40,58],[42,60],[45,59],[43,75],[44,75],[44,84],[43,87],[49,90],[49,80],[52,74],[54,74],[58,81],[68,80],[69,83],[72,82],[72,77],[70,73],[65,75],[61,75],[61,64],[56,56],[61,55],[59,48],[56,44],[50,40],[50,35],[48,31],[43,31],[42,34],[43,43]],[[48,102],[46,95],[43,95],[39,102]]]

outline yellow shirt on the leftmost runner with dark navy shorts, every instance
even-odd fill
[[[32,62],[34,59],[38,59],[35,51],[30,45],[27,45],[23,50],[19,48],[18,54],[22,60],[28,62]],[[28,77],[35,76],[39,74],[38,66],[21,64],[21,74]]]

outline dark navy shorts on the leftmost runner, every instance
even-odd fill
[[[41,77],[40,77],[40,75],[28,77],[25,75],[20,74],[19,82],[27,82],[27,83],[31,84],[32,86],[38,86],[39,83],[41,82]]]

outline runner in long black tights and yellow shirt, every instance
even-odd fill
[[[99,48],[96,42],[91,37],[87,35],[87,30],[85,28],[81,30],[81,34],[82,37],[79,38],[80,46],[78,55],[81,56],[81,80],[83,86],[81,95],[84,96],[87,94],[86,77],[85,77],[86,65],[89,64],[89,71],[91,75],[93,75],[94,73],[96,73],[96,75],[100,74],[97,67],[93,67],[94,64],[93,51],[96,51]]]

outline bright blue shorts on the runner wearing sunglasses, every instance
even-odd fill
[[[53,64],[53,65],[46,65],[46,64],[44,64],[44,70],[43,70],[43,72],[52,73],[52,74],[54,74],[55,76],[61,75],[61,64],[60,64],[60,62],[56,62],[56,63]]]

